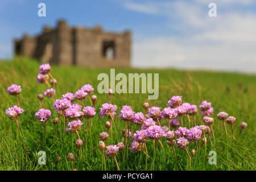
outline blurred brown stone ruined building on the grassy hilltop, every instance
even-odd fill
[[[59,20],[56,28],[44,27],[38,36],[15,39],[15,55],[34,57],[43,63],[85,67],[130,67],[131,32],[105,32],[69,27]]]

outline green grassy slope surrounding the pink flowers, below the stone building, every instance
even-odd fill
[[[57,79],[56,97],[60,98],[67,92],[75,93],[84,84],[93,85],[98,100],[96,102],[97,114],[91,119],[92,122],[92,143],[88,135],[88,146],[82,146],[82,163],[80,165],[78,150],[75,146],[77,136],[71,133],[65,133],[65,156],[63,154],[63,144],[60,138],[59,127],[57,125],[57,138],[54,135],[52,119],[47,122],[46,130],[46,155],[47,164],[38,164],[38,152],[44,150],[44,125],[35,118],[34,114],[40,109],[40,102],[36,97],[47,89],[46,84],[38,84],[36,76],[40,63],[35,60],[28,60],[24,57],[16,57],[14,61],[0,61],[0,170],[71,170],[71,164],[66,161],[67,152],[75,154],[73,165],[78,170],[101,170],[102,154],[98,148],[98,135],[106,131],[105,122],[108,118],[101,119],[98,115],[102,104],[108,101],[108,94],[98,94],[97,81],[99,73],[110,74],[109,68],[80,68],[80,67],[60,67],[52,66],[52,75]],[[216,151],[217,164],[210,165],[205,156],[205,148],[200,144],[200,150],[192,158],[192,168],[189,167],[188,157],[184,150],[176,148],[177,158],[175,159],[172,148],[163,138],[165,154],[158,145],[154,170],[255,170],[255,120],[256,120],[256,76],[245,75],[241,73],[224,72],[206,72],[206,71],[179,71],[175,69],[134,69],[117,68],[117,73],[159,73],[159,98],[158,100],[147,100],[148,94],[113,94],[112,104],[117,105],[117,114],[122,105],[130,105],[134,111],[143,111],[143,102],[149,102],[150,106],[166,107],[167,101],[171,96],[183,96],[184,102],[189,102],[197,106],[201,101],[212,102],[214,107],[214,134],[216,142],[210,146],[208,142],[207,154],[209,151]],[[5,109],[16,104],[15,97],[6,94],[7,87],[11,84],[22,86],[22,93],[18,96],[20,106],[26,111],[19,117],[20,127],[22,129],[24,143],[18,137],[15,121],[9,119],[5,114]],[[76,102],[76,101],[75,101]],[[86,105],[89,100],[86,98]],[[56,111],[53,111],[53,100],[44,98],[46,108],[52,111],[52,118],[57,117]],[[236,139],[232,138],[231,127],[228,129],[228,143],[226,143],[225,132],[222,123],[216,118],[216,114],[225,110],[229,115],[237,118],[234,124]],[[203,124],[201,114],[196,115],[197,124]],[[245,121],[248,127],[242,131],[238,138],[240,123]],[[86,121],[83,121],[86,124]],[[117,133],[113,129],[112,135],[106,141],[106,144],[117,144],[123,141],[121,130],[125,128],[125,122],[119,118],[114,120]],[[167,125],[166,120],[161,121],[162,126]],[[187,125],[187,120],[185,120]],[[139,129],[138,126],[134,126]],[[85,143],[84,125],[79,131],[81,139]],[[63,130],[63,121],[61,120],[61,130]],[[131,139],[130,139],[131,142]],[[130,147],[130,146],[129,146]],[[147,143],[148,158],[147,169],[153,156],[153,143]],[[189,152],[195,149],[195,143],[189,145]],[[85,156],[85,151],[87,154]],[[61,156],[59,166],[56,158]],[[207,155],[208,156],[208,155]],[[141,157],[141,167],[139,159]],[[119,167],[122,170],[145,170],[145,155],[133,154],[129,152],[124,162],[121,154],[117,155]],[[66,163],[67,162],[67,163]],[[106,169],[116,170],[113,158],[106,156]]]

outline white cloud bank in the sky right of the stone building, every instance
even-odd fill
[[[197,3],[148,3],[147,8],[152,6],[154,13],[170,19],[163,28],[182,34],[147,37],[135,32],[133,65],[256,73],[256,14],[231,9],[210,18],[208,6]]]

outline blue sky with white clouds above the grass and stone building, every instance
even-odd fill
[[[38,4],[46,3],[46,17]],[[209,3],[217,17],[209,17]],[[175,67],[256,73],[255,0],[0,0],[0,58],[13,38],[39,34],[64,18],[72,26],[101,24],[133,32],[134,67]]]

